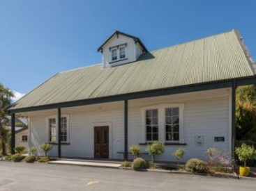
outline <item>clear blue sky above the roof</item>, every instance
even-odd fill
[[[27,93],[67,69],[100,63],[114,31],[149,50],[238,28],[256,58],[256,1],[0,0],[0,83]]]

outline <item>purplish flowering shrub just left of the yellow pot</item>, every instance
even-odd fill
[[[233,160],[229,156],[229,153],[225,151],[219,151],[216,148],[210,148],[206,151],[209,161],[208,164],[211,167],[232,167]]]

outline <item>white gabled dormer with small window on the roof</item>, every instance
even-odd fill
[[[148,52],[140,38],[120,31],[114,31],[98,48],[98,51],[103,53],[103,67],[132,63],[142,53]]]

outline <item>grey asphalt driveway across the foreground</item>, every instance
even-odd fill
[[[0,190],[256,190],[255,179],[0,161]]]

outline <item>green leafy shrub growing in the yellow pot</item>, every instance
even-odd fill
[[[242,144],[241,147],[236,147],[235,152],[241,162],[243,162],[244,167],[246,167],[247,160],[256,159],[256,150],[253,146],[247,144]]]

